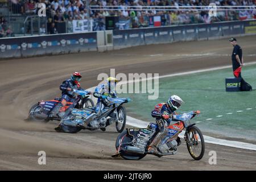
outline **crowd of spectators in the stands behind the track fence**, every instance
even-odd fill
[[[86,0],[9,0],[13,2],[13,14],[36,14],[39,10],[38,4],[46,4],[46,15],[48,22],[52,23],[53,34],[56,32],[54,26],[59,22],[67,22],[68,30],[72,29],[72,20],[82,20],[90,17],[96,22],[96,30],[104,30],[105,16],[119,16],[119,20],[129,20],[130,28],[147,27],[149,16],[160,15],[161,25],[189,24],[189,23],[211,23],[223,20],[239,19],[238,11],[218,11],[217,17],[210,18],[208,11],[200,11],[200,7],[188,8],[195,9],[183,11],[180,6],[208,6],[216,3],[217,6],[253,6],[255,0],[89,0],[89,5],[93,6],[86,9]],[[106,6],[117,6],[110,7]],[[129,7],[138,6],[138,7]],[[166,10],[150,10],[143,6],[175,6]],[[100,10],[96,10],[100,9]],[[137,11],[134,9],[141,9]],[[242,13],[248,16],[256,16],[255,11],[247,9]],[[253,18],[253,17],[248,17]]]

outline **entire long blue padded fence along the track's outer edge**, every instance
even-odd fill
[[[256,20],[0,39],[0,59],[255,35]]]

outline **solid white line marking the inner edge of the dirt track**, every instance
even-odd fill
[[[246,63],[245,65],[251,65],[251,64],[256,64],[256,61]],[[216,71],[216,70],[225,69],[225,68],[232,68],[232,65],[223,66],[223,67],[209,68],[209,69],[199,69],[197,71],[190,71],[190,72],[174,73],[174,74],[170,74],[170,75],[159,76],[158,78],[167,78],[167,77],[174,77],[174,76],[181,76],[181,75],[189,75],[189,74],[193,74],[193,73]],[[138,80],[133,80],[133,81],[122,81],[122,82],[119,82],[119,84],[129,84],[129,83],[133,83],[133,82],[139,82],[139,81],[144,81],[144,80],[152,80],[152,79],[154,79],[154,77],[149,77],[149,78],[142,79],[142,80],[138,79]],[[92,88],[89,88],[88,91],[94,91],[95,88],[96,88],[96,86],[93,86]],[[94,97],[92,97],[92,96],[90,96],[90,97],[93,99],[94,102],[96,101],[96,98],[94,99]],[[255,106],[255,108],[256,108],[256,106]],[[147,127],[148,122],[141,121],[139,119],[132,118],[129,115],[127,115],[126,124],[130,125],[130,126],[134,126],[134,127]],[[185,133],[184,131],[181,132],[180,136],[182,137],[182,135],[184,135],[184,133]],[[251,143],[238,142],[238,141],[225,140],[225,139],[218,139],[218,138],[209,137],[207,135],[204,135],[204,141],[206,143],[212,143],[212,144],[218,144],[218,145],[222,145],[222,146],[243,148],[243,149],[247,149],[247,150],[256,151],[256,144],[251,144]]]

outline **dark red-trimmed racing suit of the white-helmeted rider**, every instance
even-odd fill
[[[156,124],[159,127],[159,132],[156,134],[148,149],[152,148],[154,149],[154,152],[157,152],[155,150],[158,150],[159,144],[167,136],[168,126],[171,121],[176,121],[176,119],[172,117],[174,114],[176,114],[176,112],[172,111],[166,103],[156,105],[155,109],[151,111],[151,116],[156,118]]]

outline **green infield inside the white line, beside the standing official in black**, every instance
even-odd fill
[[[224,134],[228,137],[245,136],[256,139],[256,90],[253,92],[226,92],[225,78],[232,77],[232,69],[196,73],[187,76],[162,78],[159,80],[159,98],[148,100],[148,94],[119,94],[133,101],[126,104],[127,114],[144,121],[154,121],[151,110],[160,102],[166,102],[172,94],[180,96],[185,104],[178,110],[184,113],[201,110],[193,119],[203,131]],[[256,65],[242,69],[242,77],[256,88]],[[246,110],[252,108],[251,110]],[[237,110],[243,110],[237,113]],[[226,114],[233,113],[233,114]],[[216,117],[223,115],[223,117]],[[212,120],[207,121],[207,118]]]

